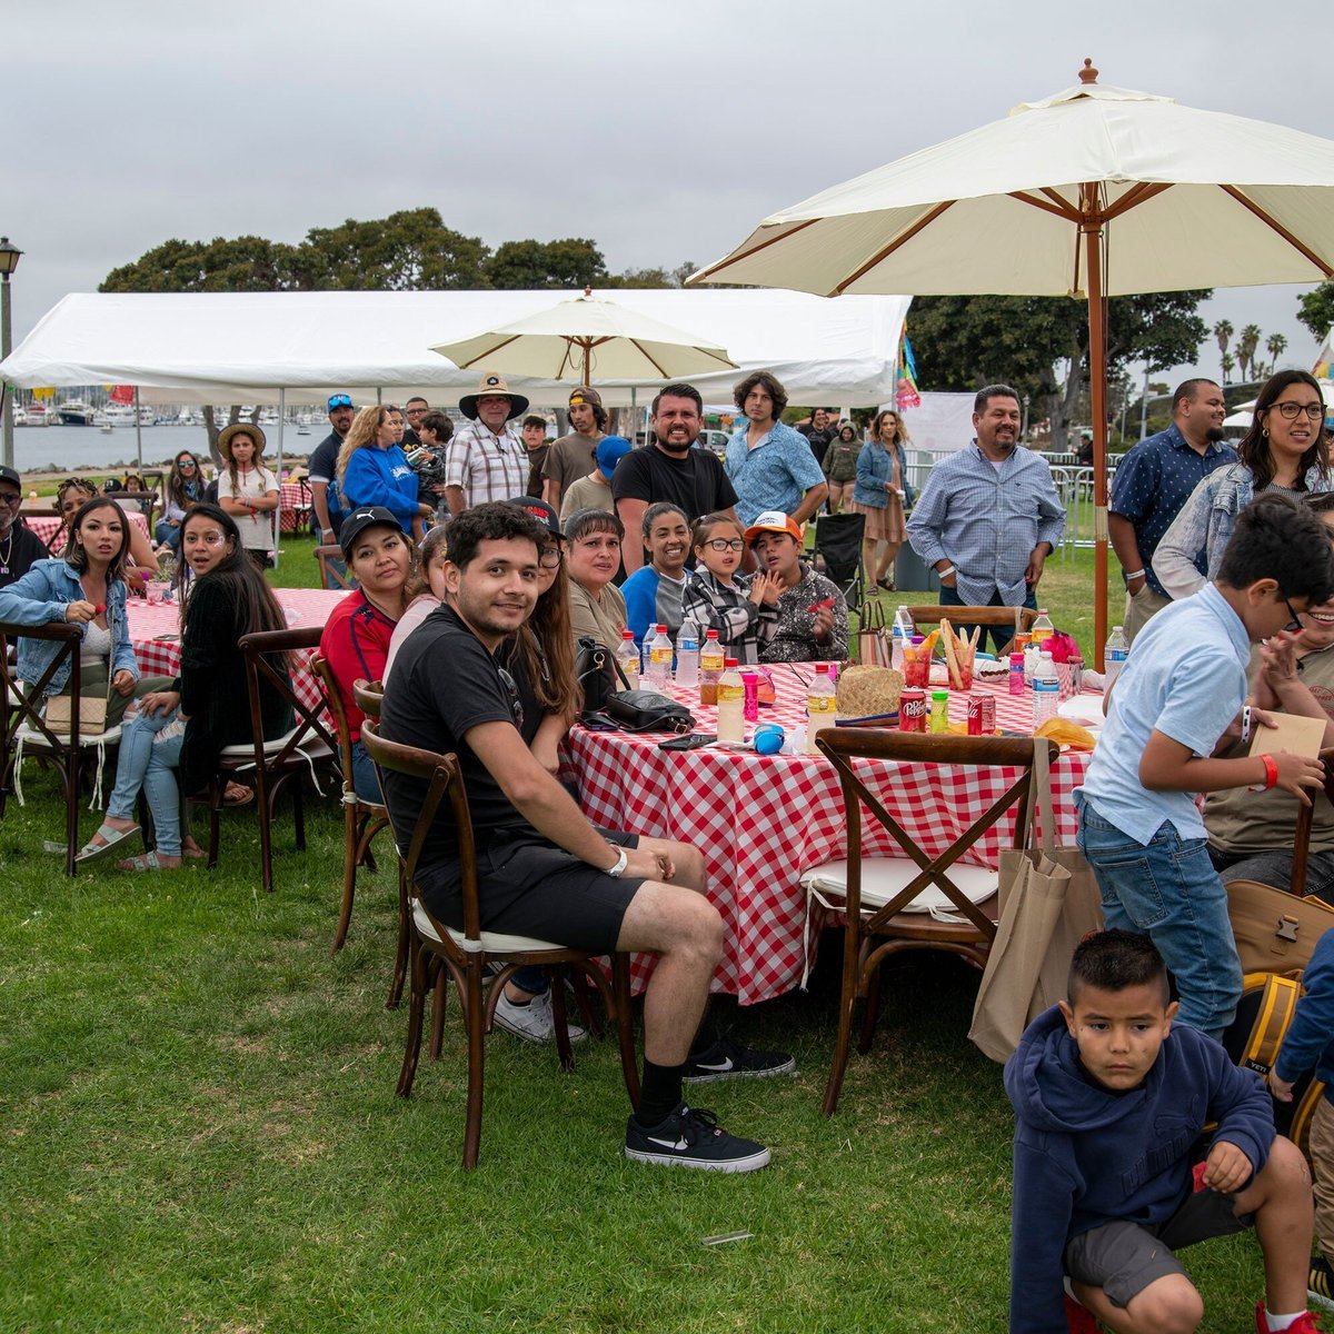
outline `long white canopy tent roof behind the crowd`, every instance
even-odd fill
[[[57,303],[0,363],[20,388],[133,384],[145,403],[317,403],[348,391],[452,406],[478,387],[430,351],[544,309],[570,293],[219,292],[88,293]],[[875,404],[894,395],[907,296],[830,300],[788,291],[618,289],[615,300],[727,348],[739,371],[694,376],[731,399],[752,370],[772,371],[794,403]],[[571,383],[507,376],[535,404],[563,404]],[[594,383],[608,407],[643,402],[662,382]]]

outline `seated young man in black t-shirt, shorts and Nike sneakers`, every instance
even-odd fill
[[[450,524],[446,598],[408,636],[384,692],[386,740],[459,756],[475,843],[482,928],[607,954],[658,955],[644,999],[644,1078],[626,1155],[714,1171],[752,1171],[768,1150],[719,1129],[682,1099],[691,1039],[722,954],[723,923],[658,840],[603,836],[524,742],[531,720],[498,654],[538,600],[546,530],[511,504],[480,504]],[[427,784],[384,771],[395,840],[412,839]],[[682,859],[684,866],[687,858]],[[442,806],[416,883],[431,912],[463,926],[458,828]]]

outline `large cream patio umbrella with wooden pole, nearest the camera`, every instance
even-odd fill
[[[766,217],[691,283],[1087,299],[1095,636],[1107,632],[1107,296],[1334,273],[1334,143],[1079,83]]]

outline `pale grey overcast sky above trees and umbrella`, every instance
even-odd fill
[[[434,204],[491,245],[590,236],[612,271],[703,264],[768,212],[1075,81],[1334,135],[1323,12],[1122,0],[47,0],[0,36],[0,232],[17,343],[168,237]],[[1313,45],[1307,45],[1310,39]],[[1202,313],[1289,339],[1305,288]],[[1201,352],[1218,374],[1218,350]],[[930,378],[928,368],[923,368]]]

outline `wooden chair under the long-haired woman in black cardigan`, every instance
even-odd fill
[[[319,648],[323,626],[301,626],[293,630],[263,630],[240,639],[245,654],[245,688],[249,694],[251,740],[223,750],[217,771],[208,786],[208,868],[217,866],[219,824],[224,807],[227,782],[244,774],[255,780],[255,806],[259,810],[260,872],[264,890],[273,891],[273,810],[279,792],[292,783],[292,819],[296,826],[296,850],[305,851],[305,808],[301,803],[301,776],[315,776],[316,767],[336,771],[338,738],[324,720],[323,694],[315,704],[307,704],[292,687],[291,675],[281,670],[291,655],[296,656],[291,671],[309,671],[303,650]],[[292,707],[293,727],[273,740],[264,739],[264,716],[260,682],[277,691]]]

